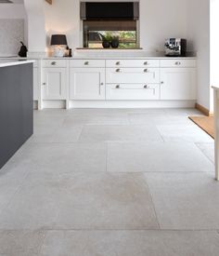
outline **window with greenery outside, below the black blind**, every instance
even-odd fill
[[[119,48],[137,48],[137,28],[136,20],[84,20],[84,47],[102,48],[104,40],[116,37]]]

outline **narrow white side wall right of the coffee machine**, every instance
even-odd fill
[[[190,0],[187,8],[190,48],[198,57],[198,103],[210,110],[210,0]]]

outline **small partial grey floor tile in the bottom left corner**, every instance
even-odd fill
[[[0,255],[39,256],[44,238],[39,231],[0,231]]]

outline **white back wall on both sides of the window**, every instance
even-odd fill
[[[54,0],[53,2],[52,6],[45,4],[47,44],[51,34],[64,33],[68,35],[70,47],[82,47],[80,0]],[[165,38],[187,37],[185,2],[187,0],[140,0],[141,47],[148,51],[162,51]]]

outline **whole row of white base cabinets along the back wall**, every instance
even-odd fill
[[[45,58],[33,101],[46,108],[182,108],[197,100],[196,58]]]

